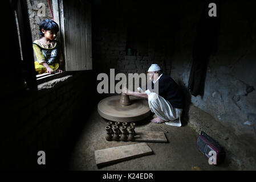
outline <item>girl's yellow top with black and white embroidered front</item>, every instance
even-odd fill
[[[54,40],[51,44],[44,44],[39,40],[33,42],[33,49],[39,64],[46,62],[48,65],[63,61],[63,55],[58,40]]]

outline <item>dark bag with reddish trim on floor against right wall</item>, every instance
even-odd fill
[[[209,164],[221,164],[225,159],[224,148],[204,131],[197,137],[197,148],[208,158]]]

